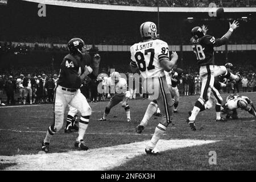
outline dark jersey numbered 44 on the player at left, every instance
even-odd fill
[[[90,65],[90,55],[88,53],[82,56],[68,54],[60,64],[60,77],[57,85],[69,89],[79,89],[82,82],[80,75],[84,73],[85,65]]]

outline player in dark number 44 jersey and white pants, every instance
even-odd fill
[[[84,41],[74,38],[68,42],[69,54],[64,57],[60,65],[60,76],[55,88],[54,122],[49,126],[46,138],[42,142],[42,151],[49,151],[49,142],[53,135],[63,126],[64,111],[67,105],[75,107],[81,113],[79,121],[79,134],[76,138],[75,147],[88,150],[84,142],[84,134],[88,127],[89,118],[92,114],[85,96],[80,91],[80,86],[86,76],[97,77],[100,59],[91,59],[85,53]],[[92,60],[91,67],[89,66]],[[90,74],[93,73],[93,74]]]

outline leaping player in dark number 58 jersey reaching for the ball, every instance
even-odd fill
[[[204,109],[205,102],[208,101],[210,92],[214,84],[214,75],[222,75],[230,80],[240,81],[240,75],[233,75],[224,66],[214,65],[214,49],[213,47],[219,47],[228,42],[228,39],[232,35],[232,32],[239,27],[238,22],[234,20],[229,23],[229,30],[220,39],[215,39],[211,35],[205,35],[207,28],[205,26],[194,27],[191,31],[192,48],[197,57],[197,63],[200,65],[200,79],[201,79],[201,95],[196,101],[193,107],[192,114],[187,118],[187,122],[193,131],[196,130],[195,119],[199,111]]]

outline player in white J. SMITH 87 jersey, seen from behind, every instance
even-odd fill
[[[143,42],[131,46],[130,66],[133,73],[139,69],[142,77],[145,79],[143,88],[147,90],[147,93],[152,94],[151,98],[155,98],[160,110],[163,111],[161,121],[156,126],[155,133],[145,149],[147,154],[157,155],[156,143],[158,143],[158,140],[165,133],[167,126],[172,122],[173,111],[171,93],[168,89],[164,71],[171,71],[176,64],[178,56],[176,52],[172,52],[170,61],[168,44],[156,39],[157,29],[155,23],[142,23],[140,32]],[[150,92],[151,88],[154,88],[154,93]],[[155,107],[155,103],[153,101],[150,102],[146,113],[154,114]],[[142,121],[136,127],[136,131],[141,133],[143,129],[144,123]]]

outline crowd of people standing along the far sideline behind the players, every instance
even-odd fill
[[[99,73],[105,73],[110,75],[110,68],[114,68],[119,73],[125,73],[127,78],[130,72],[129,65],[125,67],[123,65],[109,65],[105,67],[102,65]],[[32,104],[51,103],[53,101],[54,88],[53,81],[57,77],[58,69],[52,67],[19,67],[11,69],[0,69],[0,99],[2,105],[5,104],[22,104],[21,98],[19,98],[20,85],[17,82],[19,78],[30,78],[32,92]],[[240,73],[242,81],[240,83],[228,81],[226,88],[222,89],[223,93],[235,93],[235,92],[256,92],[256,68],[250,64],[236,64],[233,68],[233,73]],[[22,76],[22,77],[21,77]],[[91,80],[86,78],[85,82],[81,86],[81,92],[88,98],[88,101],[97,102],[104,101],[106,99],[105,94],[97,93],[97,85],[102,81],[101,77]],[[192,96],[200,94],[200,79],[197,66],[183,68],[183,74],[180,78],[179,91],[185,96]],[[133,89],[133,88],[130,88]],[[147,98],[145,94],[142,94],[141,90],[137,90],[137,94],[141,94],[141,97]],[[136,95],[133,97],[135,98]],[[15,98],[17,98],[15,100]],[[29,103],[29,97],[27,102]],[[1,104],[1,103],[0,103]]]

